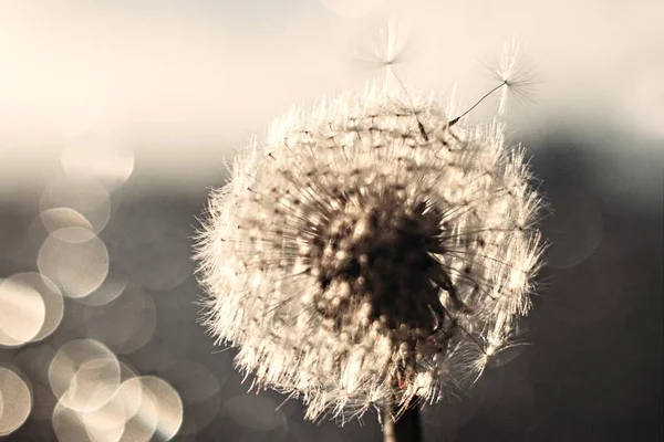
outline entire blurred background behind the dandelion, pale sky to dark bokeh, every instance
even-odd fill
[[[655,0],[1,0],[0,439],[380,440],[375,414],[312,424],[247,393],[196,323],[190,250],[224,160],[292,105],[383,78],[393,18],[408,90],[458,108],[521,43],[535,103],[506,118],[551,209],[532,345],[427,408],[426,440],[661,440]]]

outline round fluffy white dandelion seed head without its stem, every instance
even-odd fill
[[[455,124],[452,124],[454,122]],[[197,240],[205,324],[307,418],[436,402],[512,345],[539,198],[504,126],[372,87],[278,120]]]

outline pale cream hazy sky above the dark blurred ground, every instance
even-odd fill
[[[620,122],[664,139],[655,0],[1,0],[0,183],[56,175],[72,146],[204,182],[292,105],[382,77],[352,61],[391,17],[409,29],[397,72],[416,91],[471,103],[492,85],[479,61],[513,38],[542,80],[519,125]]]

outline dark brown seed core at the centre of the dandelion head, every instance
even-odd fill
[[[329,213],[309,231],[311,267],[321,293],[314,303],[321,315],[342,326],[344,317],[369,302],[370,320],[386,329],[406,327],[424,338],[450,318],[439,299],[453,291],[435,254],[444,250],[443,210],[429,201],[413,201],[401,189],[367,194],[338,190]],[[341,284],[350,296],[334,293]]]

